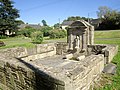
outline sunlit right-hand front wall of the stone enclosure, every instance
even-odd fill
[[[104,56],[92,55],[78,62],[78,66],[68,73],[70,81],[65,82],[65,90],[88,90],[94,79],[104,69]]]

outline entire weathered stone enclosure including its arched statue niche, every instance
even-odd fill
[[[94,27],[83,20],[70,25],[67,41],[0,50],[0,88],[88,90],[118,46],[95,45]]]

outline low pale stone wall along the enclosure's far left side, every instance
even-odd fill
[[[6,58],[16,57],[24,60],[35,60],[39,58],[49,57],[56,54],[56,46],[54,43],[38,44],[33,48],[9,48],[0,51],[0,55]]]

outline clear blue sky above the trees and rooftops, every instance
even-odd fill
[[[19,10],[20,20],[41,24],[45,20],[52,26],[70,16],[97,18],[100,6],[120,10],[120,0],[12,0]]]

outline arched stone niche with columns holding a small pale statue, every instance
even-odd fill
[[[74,21],[68,29],[69,51],[87,54],[87,45],[94,44],[94,26],[84,20]]]

